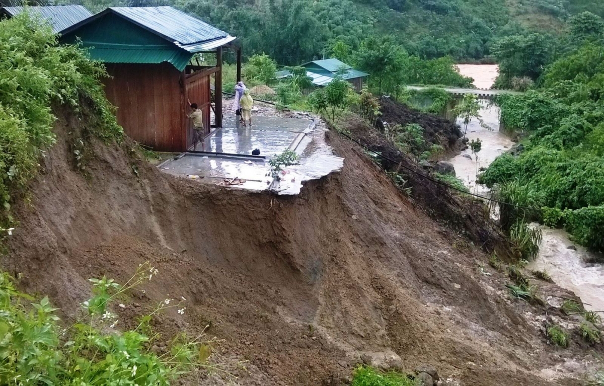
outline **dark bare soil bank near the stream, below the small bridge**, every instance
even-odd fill
[[[383,129],[384,122],[402,126],[417,123],[423,127],[427,143],[440,144],[447,151],[455,151],[460,146],[461,130],[457,124],[437,115],[423,114],[388,97],[381,97],[379,103],[382,113],[377,124],[379,128]]]

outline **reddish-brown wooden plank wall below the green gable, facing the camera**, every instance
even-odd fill
[[[181,72],[170,63],[106,66],[112,77],[105,81],[107,98],[117,106],[118,123],[127,135],[158,151],[185,150],[188,106],[185,111]]]

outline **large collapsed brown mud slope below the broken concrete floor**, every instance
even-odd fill
[[[277,199],[177,180],[101,143],[90,145],[86,178],[70,161],[79,125],[60,118],[4,261],[66,318],[87,278],[124,281],[149,260],[158,277],[115,311],[127,325],[167,294],[184,296],[186,314],[157,328],[211,324],[223,355],[250,361],[249,373],[233,370],[237,384],[339,384],[362,353],[393,367],[432,364],[466,385],[552,384],[532,372],[553,357],[493,289],[497,274],[475,266],[481,251],[453,248],[461,240],[349,142],[330,138],[346,159],[339,175]]]

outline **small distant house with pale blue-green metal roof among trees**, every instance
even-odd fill
[[[301,66],[307,69],[306,75],[312,78],[312,83],[315,86],[325,86],[335,77],[341,76],[342,79],[352,83],[356,91],[361,91],[364,79],[369,76],[369,74],[358,71],[338,59],[313,60]],[[280,71],[277,73],[277,79],[283,79],[290,75],[289,71]]]

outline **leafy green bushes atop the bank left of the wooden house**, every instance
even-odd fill
[[[13,224],[11,205],[55,141],[55,108],[67,105],[86,114],[88,135],[121,138],[100,84],[104,77],[85,51],[57,44],[50,28],[38,27],[26,13],[0,21],[0,228]],[[80,162],[82,152],[74,149],[74,158]]]

